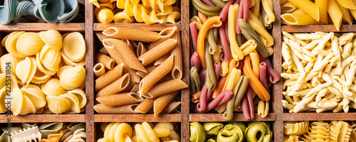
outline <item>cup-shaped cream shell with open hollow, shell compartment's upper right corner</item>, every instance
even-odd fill
[[[78,32],[69,33],[63,40],[63,51],[73,62],[79,62],[85,56],[85,40]]]

